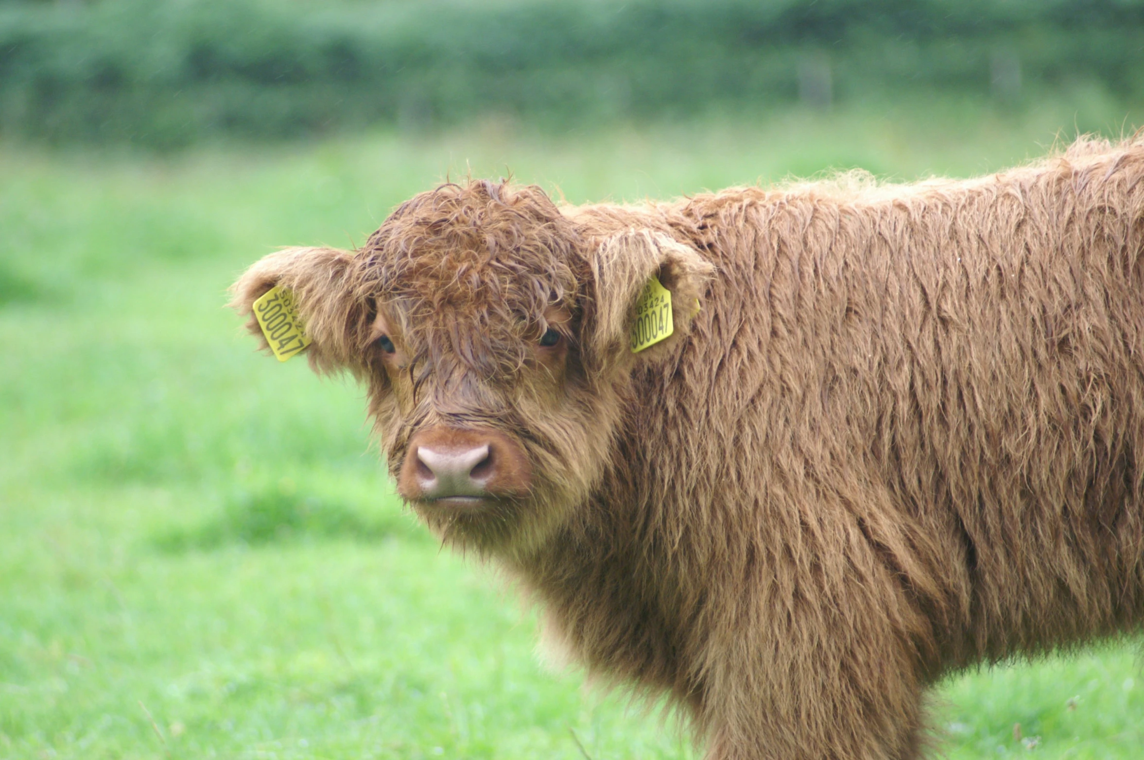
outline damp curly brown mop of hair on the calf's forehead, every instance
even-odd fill
[[[399,206],[370,237],[358,291],[388,306],[411,343],[448,346],[482,374],[510,371],[546,307],[575,306],[588,272],[580,245],[535,185],[447,183]]]

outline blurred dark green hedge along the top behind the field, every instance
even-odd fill
[[[0,135],[53,142],[1093,81],[1144,94],[1144,0],[0,0]]]

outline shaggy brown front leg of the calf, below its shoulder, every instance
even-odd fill
[[[925,622],[900,586],[860,571],[779,585],[712,638],[699,707],[708,760],[920,757]]]

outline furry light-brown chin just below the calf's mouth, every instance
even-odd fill
[[[443,544],[500,557],[534,552],[566,513],[534,496],[452,496],[408,499],[407,504]]]

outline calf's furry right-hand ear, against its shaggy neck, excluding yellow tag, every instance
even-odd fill
[[[590,263],[594,294],[587,310],[583,343],[601,367],[656,361],[668,355],[691,330],[692,320],[702,306],[707,281],[715,271],[694,248],[650,230],[605,238],[593,251]],[[637,323],[641,309],[646,305],[642,303],[645,289],[653,278],[670,293],[672,333],[642,347],[656,337],[646,329],[651,327],[650,319],[657,320],[651,333],[661,330],[665,322],[664,315],[658,314],[644,320],[642,327]]]

